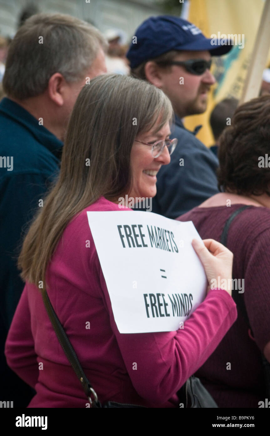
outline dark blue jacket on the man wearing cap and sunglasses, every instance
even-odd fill
[[[177,138],[178,144],[170,164],[163,165],[157,174],[153,212],[177,218],[219,192],[216,176],[218,159],[196,138],[197,131],[198,128],[193,133],[185,129],[180,118],[175,116],[170,138]]]

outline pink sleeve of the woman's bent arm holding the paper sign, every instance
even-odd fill
[[[103,284],[106,287],[105,280]],[[165,402],[175,395],[213,353],[237,318],[231,296],[225,290],[210,290],[203,303],[185,321],[183,329],[120,334],[107,287],[102,287],[113,333],[132,384],[142,398],[151,402]]]

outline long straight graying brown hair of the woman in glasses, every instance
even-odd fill
[[[68,124],[59,179],[23,243],[24,280],[42,280],[45,287],[47,264],[69,221],[101,196],[112,201],[128,193],[135,138],[171,118],[170,100],[148,82],[102,75],[83,87]]]

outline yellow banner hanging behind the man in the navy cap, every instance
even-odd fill
[[[190,0],[188,20],[199,27],[206,37],[215,34],[222,38],[222,34],[233,34],[243,46],[234,45],[228,54],[213,56],[211,72],[217,83],[211,87],[207,111],[184,119],[185,126],[190,130],[203,125],[197,138],[207,146],[215,142],[209,125],[214,106],[225,98],[240,99],[263,4],[264,0]]]

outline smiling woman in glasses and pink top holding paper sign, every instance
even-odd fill
[[[28,407],[86,405],[43,305],[40,283],[102,403],[178,407],[177,391],[237,317],[230,289],[209,290],[184,330],[120,334],[113,317],[87,211],[125,210],[118,207],[120,197],[156,194],[157,171],[170,162],[176,146],[169,140],[171,118],[172,107],[163,92],[135,78],[103,75],[80,92],[59,178],[19,258],[26,285],[8,334],[6,357],[13,371],[37,391]],[[232,254],[223,245],[194,240],[193,248],[209,283],[218,276],[231,278]]]

